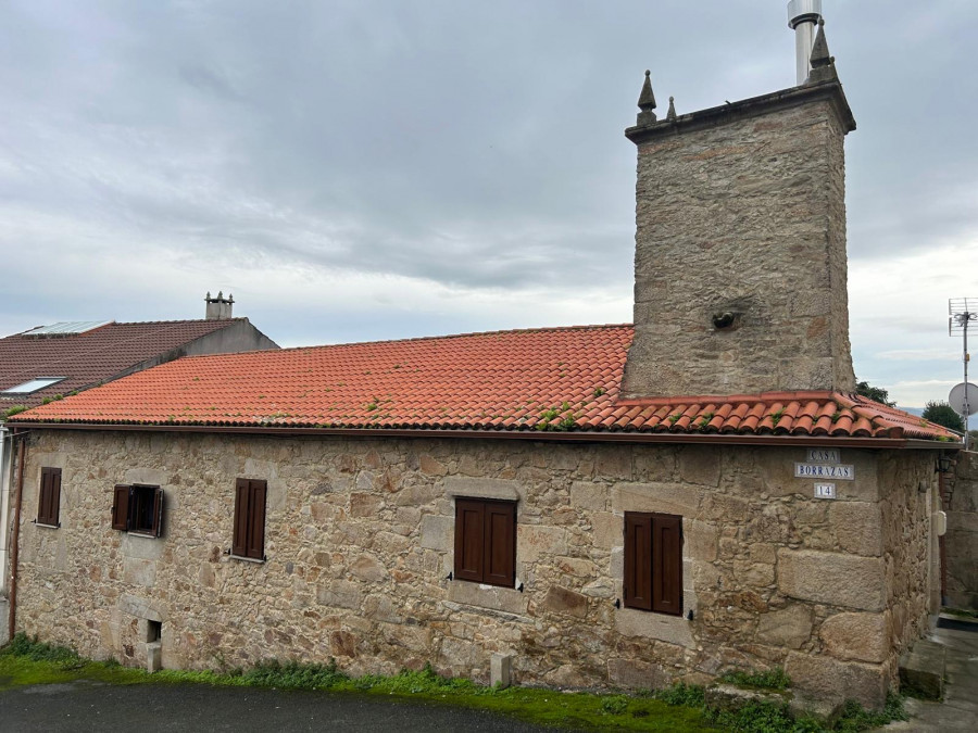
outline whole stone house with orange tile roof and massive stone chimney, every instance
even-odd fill
[[[878,705],[939,603],[944,429],[850,394],[842,146],[805,83],[638,124],[635,325],[201,356],[12,421],[17,630],[126,664]]]

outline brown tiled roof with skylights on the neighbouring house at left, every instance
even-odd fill
[[[13,405],[39,405],[45,397],[66,395],[109,381],[185,344],[247,320],[73,321],[9,336],[0,339],[0,413]],[[174,353],[170,357],[178,355]],[[4,394],[39,378],[58,381],[35,391]]]

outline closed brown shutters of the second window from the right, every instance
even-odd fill
[[[516,585],[516,503],[455,500],[457,580]]]

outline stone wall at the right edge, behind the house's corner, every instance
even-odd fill
[[[946,603],[978,610],[978,453],[962,452],[945,484]]]

